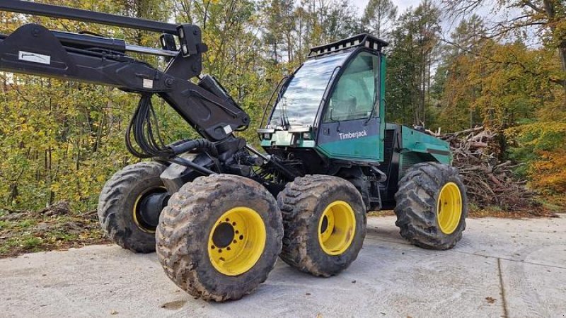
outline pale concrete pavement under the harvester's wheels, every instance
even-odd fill
[[[223,304],[182,292],[155,254],[115,246],[2,259],[0,286],[2,317],[563,317],[566,216],[470,219],[449,251],[409,245],[395,218],[370,218],[340,276],[279,261],[255,293]]]

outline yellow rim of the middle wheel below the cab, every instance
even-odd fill
[[[356,234],[356,216],[350,204],[334,201],[318,221],[318,242],[329,255],[340,255],[352,245]]]

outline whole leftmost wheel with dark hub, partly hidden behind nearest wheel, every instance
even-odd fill
[[[155,229],[169,194],[161,181],[166,165],[129,165],[106,182],[98,199],[100,225],[120,247],[133,252],[155,251]]]

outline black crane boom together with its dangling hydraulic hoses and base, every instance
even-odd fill
[[[163,33],[161,49],[156,49],[107,37],[48,30],[31,23],[11,35],[0,35],[0,71],[114,86],[141,95],[127,132],[128,149],[140,158],[159,158],[210,175],[214,173],[212,166],[229,166],[236,153],[247,153],[246,141],[232,133],[246,129],[250,117],[212,76],[201,76],[202,54],[208,48],[197,25],[175,25],[19,0],[1,1],[0,10]],[[168,66],[157,69],[129,57],[128,52],[165,57]],[[200,80],[197,84],[189,81],[195,77]],[[204,139],[163,145],[152,128],[156,119],[151,106],[153,95],[163,98]],[[132,146],[132,139],[138,147]],[[193,150],[204,151],[210,159],[195,163],[179,157]],[[222,169],[216,169],[219,170]]]

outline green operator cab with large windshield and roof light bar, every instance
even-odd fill
[[[313,47],[308,60],[279,89],[267,125],[259,130],[265,151],[313,165],[320,160],[382,161],[381,50],[387,45],[362,34]]]

